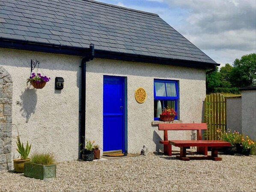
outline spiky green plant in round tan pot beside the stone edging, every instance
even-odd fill
[[[13,160],[13,167],[15,172],[24,172],[24,162],[30,161],[30,158],[28,158],[28,155],[30,154],[30,148],[31,144],[26,144],[26,147],[24,147],[23,142],[20,140],[20,136],[17,136],[17,151],[21,155],[21,158],[17,158]]]

